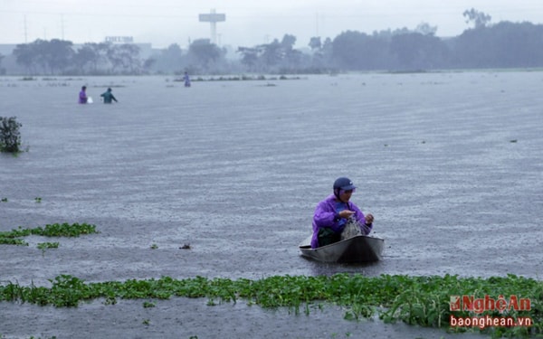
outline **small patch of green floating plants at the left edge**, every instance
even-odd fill
[[[88,223],[53,223],[45,225],[45,228],[37,227],[34,229],[19,228],[12,231],[0,231],[0,244],[4,245],[24,245],[28,246],[24,240],[17,238],[27,237],[29,235],[41,235],[43,237],[79,237],[81,234],[98,233],[95,225]]]

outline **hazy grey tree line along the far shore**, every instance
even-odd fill
[[[419,24],[371,34],[347,31],[334,39],[312,37],[306,51],[294,48],[296,37],[256,46],[239,46],[238,58],[206,39],[186,50],[177,44],[143,60],[135,44],[83,44],[53,39],[19,44],[16,63],[29,74],[198,74],[233,72],[320,73],[330,71],[432,71],[473,68],[543,67],[543,25],[529,22],[491,24],[491,16],[474,9],[463,13],[472,27],[459,36],[439,38],[437,27]],[[0,55],[0,66],[5,56]],[[1,67],[0,67],[0,71]],[[4,70],[5,72],[6,70]]]

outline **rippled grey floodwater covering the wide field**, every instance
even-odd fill
[[[78,105],[82,85],[94,99]],[[100,103],[108,87],[119,103]],[[0,155],[0,231],[87,222],[100,234],[42,253],[0,246],[0,280],[49,286],[129,278],[543,274],[543,72],[480,71],[195,81],[0,78],[23,147]],[[385,258],[300,257],[312,212],[348,176]],[[36,200],[41,198],[41,200]],[[190,250],[180,247],[189,244]],[[151,247],[157,247],[151,249]],[[86,337],[448,337],[342,311],[204,299],[0,304],[0,334]],[[148,319],[150,325],[142,324]],[[469,334],[452,335],[467,337]],[[476,337],[480,337],[479,334]]]

